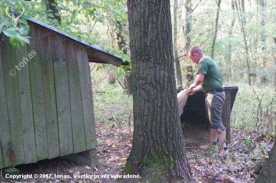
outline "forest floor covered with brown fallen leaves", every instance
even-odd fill
[[[103,142],[97,148],[101,167],[76,163],[60,158],[16,166],[20,174],[38,174],[40,178],[7,179],[1,182],[114,182],[125,165],[132,143],[132,132],[127,127],[117,128],[96,125],[97,140]],[[244,130],[231,130],[232,142],[228,145],[229,157],[223,158],[216,149],[202,150],[198,146],[186,147],[192,175],[196,182],[254,182],[261,166],[273,146],[270,135],[253,136]],[[258,163],[261,162],[261,163]],[[258,167],[254,167],[258,164]],[[79,177],[76,177],[79,175]],[[86,177],[80,177],[86,175]],[[92,176],[91,178],[88,175]],[[44,176],[44,177],[43,177]],[[64,176],[70,176],[64,177]],[[111,177],[112,176],[112,177]]]

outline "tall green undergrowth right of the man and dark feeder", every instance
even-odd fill
[[[231,127],[258,134],[273,133],[276,128],[275,91],[269,86],[260,89],[241,83],[235,85],[239,86],[239,91],[231,113]]]

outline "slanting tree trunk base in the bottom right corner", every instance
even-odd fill
[[[262,168],[255,183],[276,182],[276,142],[269,153],[269,159]]]

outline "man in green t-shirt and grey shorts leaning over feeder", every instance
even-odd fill
[[[192,91],[187,95],[194,95],[199,91],[205,93],[206,115],[210,122],[211,141],[206,145],[201,146],[201,148],[216,145],[218,138],[221,145],[221,153],[228,154],[225,143],[226,131],[221,120],[225,93],[221,82],[219,68],[213,59],[206,57],[198,47],[193,47],[189,51],[189,58],[192,62],[198,64],[198,71],[195,82],[190,85]],[[201,84],[201,86],[196,87],[199,84]]]

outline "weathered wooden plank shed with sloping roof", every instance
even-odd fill
[[[19,50],[4,36],[0,45],[0,168],[79,152],[98,163],[88,62],[127,63],[39,21],[28,24],[30,44]]]

